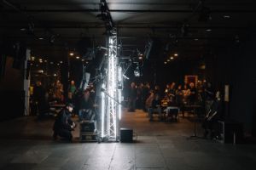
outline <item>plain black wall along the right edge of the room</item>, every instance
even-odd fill
[[[230,100],[230,116],[244,123],[247,133],[255,126],[256,114],[256,41],[254,35],[241,45],[233,67],[232,96]],[[237,51],[237,50],[235,50]]]

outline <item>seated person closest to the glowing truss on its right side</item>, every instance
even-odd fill
[[[150,94],[147,101],[147,108],[148,108],[148,116],[149,121],[153,121],[153,113],[154,111],[158,112],[160,120],[162,118],[162,111],[161,111],[161,100],[159,94]]]

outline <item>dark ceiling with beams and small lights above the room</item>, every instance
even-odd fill
[[[105,44],[105,25],[96,18],[100,0],[1,0],[0,36],[21,41],[32,54],[61,59],[81,39]],[[241,42],[255,31],[254,0],[107,0],[122,53],[144,50],[149,39],[161,59],[178,53],[196,59],[212,49]],[[83,42],[83,41],[82,41]],[[93,42],[93,43],[92,43]],[[155,50],[155,49],[154,49]]]

